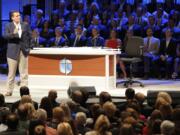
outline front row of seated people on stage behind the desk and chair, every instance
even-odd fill
[[[38,29],[34,29],[32,32],[32,46],[34,47],[110,47],[110,48],[121,48],[125,50],[128,38],[134,35],[133,30],[129,30],[123,40],[117,38],[118,32],[116,29],[110,31],[110,38],[105,40],[99,33],[98,27],[92,28],[92,36],[87,38],[83,35],[82,25],[78,25],[75,34],[64,37],[63,31],[60,27],[55,29],[55,37],[46,41],[44,38],[39,36]],[[156,77],[161,78],[160,71],[161,67],[165,68],[166,78],[176,78],[178,76],[179,67],[179,41],[173,37],[173,31],[166,29],[165,36],[161,40],[153,36],[153,29],[151,27],[146,30],[146,37],[144,38],[144,78],[148,78],[151,67]],[[133,49],[133,46],[132,46]],[[123,72],[123,76],[127,77],[126,69],[123,62],[119,59],[120,68]],[[174,67],[174,68],[172,68]],[[158,73],[158,74],[157,74]]]

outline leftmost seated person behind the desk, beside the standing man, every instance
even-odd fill
[[[35,28],[32,31],[31,44],[33,47],[46,47],[46,44],[47,44],[46,39],[43,37],[40,37],[38,28]]]

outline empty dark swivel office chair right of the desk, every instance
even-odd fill
[[[143,83],[137,80],[133,80],[133,64],[142,62],[143,56],[143,38],[133,36],[128,39],[126,48],[125,48],[125,56],[121,58],[121,60],[125,63],[129,64],[130,74],[129,78],[125,81],[117,82],[116,86],[119,84],[124,84],[125,87],[129,87],[134,83],[139,84],[141,87],[144,87]]]

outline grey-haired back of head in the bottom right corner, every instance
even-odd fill
[[[173,135],[175,124],[172,121],[165,120],[161,123],[161,133],[163,135]]]

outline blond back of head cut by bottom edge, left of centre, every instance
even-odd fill
[[[58,135],[73,135],[72,128],[69,123],[62,122],[57,127]]]

